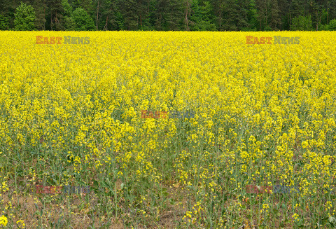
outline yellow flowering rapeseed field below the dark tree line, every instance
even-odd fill
[[[335,228],[335,43],[0,32],[0,228]]]

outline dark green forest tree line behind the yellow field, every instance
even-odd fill
[[[1,30],[336,30],[336,0],[0,0]]]

